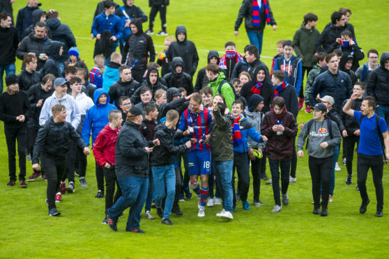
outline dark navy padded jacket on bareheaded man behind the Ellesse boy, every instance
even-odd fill
[[[312,107],[317,103],[316,95],[318,93],[320,97],[324,95],[333,97],[335,100],[333,107],[339,113],[344,100],[349,98],[353,93],[353,85],[351,84],[349,75],[345,72],[337,70],[337,74],[333,74],[327,70],[323,74],[319,74],[312,84],[310,91]]]

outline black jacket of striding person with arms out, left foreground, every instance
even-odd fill
[[[41,155],[51,157],[56,161],[66,159],[66,154],[70,148],[69,140],[75,141],[81,149],[86,147],[86,144],[70,123],[54,123],[53,118],[50,117],[45,125],[40,127],[38,136],[36,136],[35,145],[33,146],[33,164],[38,164],[38,157]]]

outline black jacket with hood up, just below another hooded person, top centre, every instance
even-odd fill
[[[185,88],[187,95],[190,95],[191,93],[194,93],[192,78],[190,77],[190,74],[187,74],[186,72],[183,71],[178,74],[176,72],[176,67],[178,65],[181,65],[181,67],[183,67],[184,65],[183,58],[181,58],[180,56],[176,56],[175,58],[173,58],[173,61],[171,61],[172,72],[170,72],[169,74],[165,74],[165,77],[163,78],[166,81],[167,88],[183,87]]]

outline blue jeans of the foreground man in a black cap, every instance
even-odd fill
[[[130,208],[126,231],[139,229],[140,214],[146,201],[148,177],[128,176],[118,179],[122,195],[116,203],[107,210],[109,218],[118,219],[125,209]]]

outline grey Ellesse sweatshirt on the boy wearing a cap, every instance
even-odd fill
[[[321,122],[314,120],[309,132],[310,141],[308,142],[307,146],[308,155],[310,155],[310,157],[316,158],[330,157],[331,155],[333,155],[333,147],[339,145],[341,141],[340,131],[335,122],[333,122],[331,134],[333,136],[330,136],[330,133],[328,132],[327,119]],[[303,130],[301,130],[297,138],[297,150],[303,150],[305,139],[307,138],[307,136],[308,123],[305,123]],[[320,148],[319,145],[325,141],[327,141],[328,147]]]

